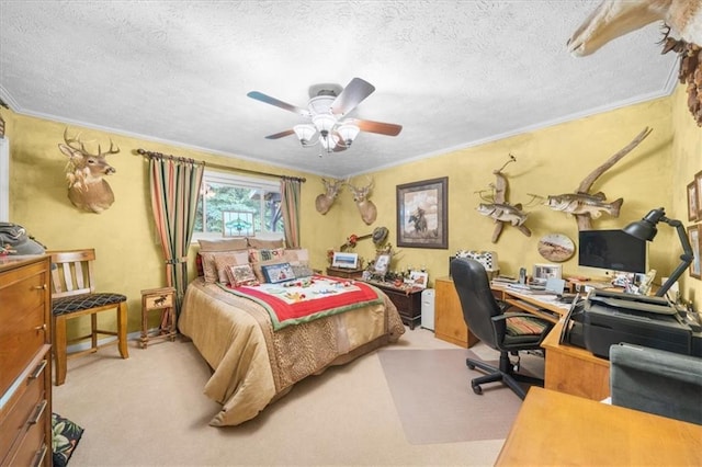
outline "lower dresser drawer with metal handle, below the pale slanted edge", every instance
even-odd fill
[[[44,372],[50,365],[49,354],[41,361],[30,375],[18,386],[8,401],[7,410],[0,415],[0,453],[10,449],[15,440],[25,431],[36,413],[36,407],[45,396]]]

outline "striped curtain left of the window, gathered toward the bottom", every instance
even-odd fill
[[[204,169],[204,163],[192,159],[149,157],[151,208],[166,261],[166,281],[177,291],[176,320],[188,286],[188,248]]]

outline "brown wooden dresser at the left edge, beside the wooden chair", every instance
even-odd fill
[[[0,465],[52,465],[50,259],[0,257]]]

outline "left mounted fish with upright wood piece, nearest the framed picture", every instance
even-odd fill
[[[478,204],[477,212],[483,216],[492,218],[495,221],[492,243],[497,243],[506,224],[517,227],[517,229],[526,237],[531,237],[531,230],[524,226],[529,213],[522,210],[521,204],[511,205],[507,202],[508,183],[507,178],[502,174],[502,170],[509,163],[516,161],[514,156],[509,155],[509,160],[501,168],[492,171],[497,180],[495,184],[489,185],[492,192],[489,196],[483,196],[485,190],[478,192],[480,198],[486,203]]]

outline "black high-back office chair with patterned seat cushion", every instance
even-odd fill
[[[480,385],[501,381],[509,386],[521,399],[526,391],[521,383],[543,386],[543,379],[518,374],[519,360],[516,364],[509,355],[519,351],[537,350],[553,324],[544,319],[528,314],[506,314],[507,304],[497,301],[490,291],[490,282],[483,264],[467,258],[456,258],[451,262],[451,276],[463,308],[463,319],[471,332],[490,348],[500,352],[499,367],[485,362],[467,358],[465,364],[471,369],[478,367],[487,375],[471,380],[475,394],[483,394]]]

